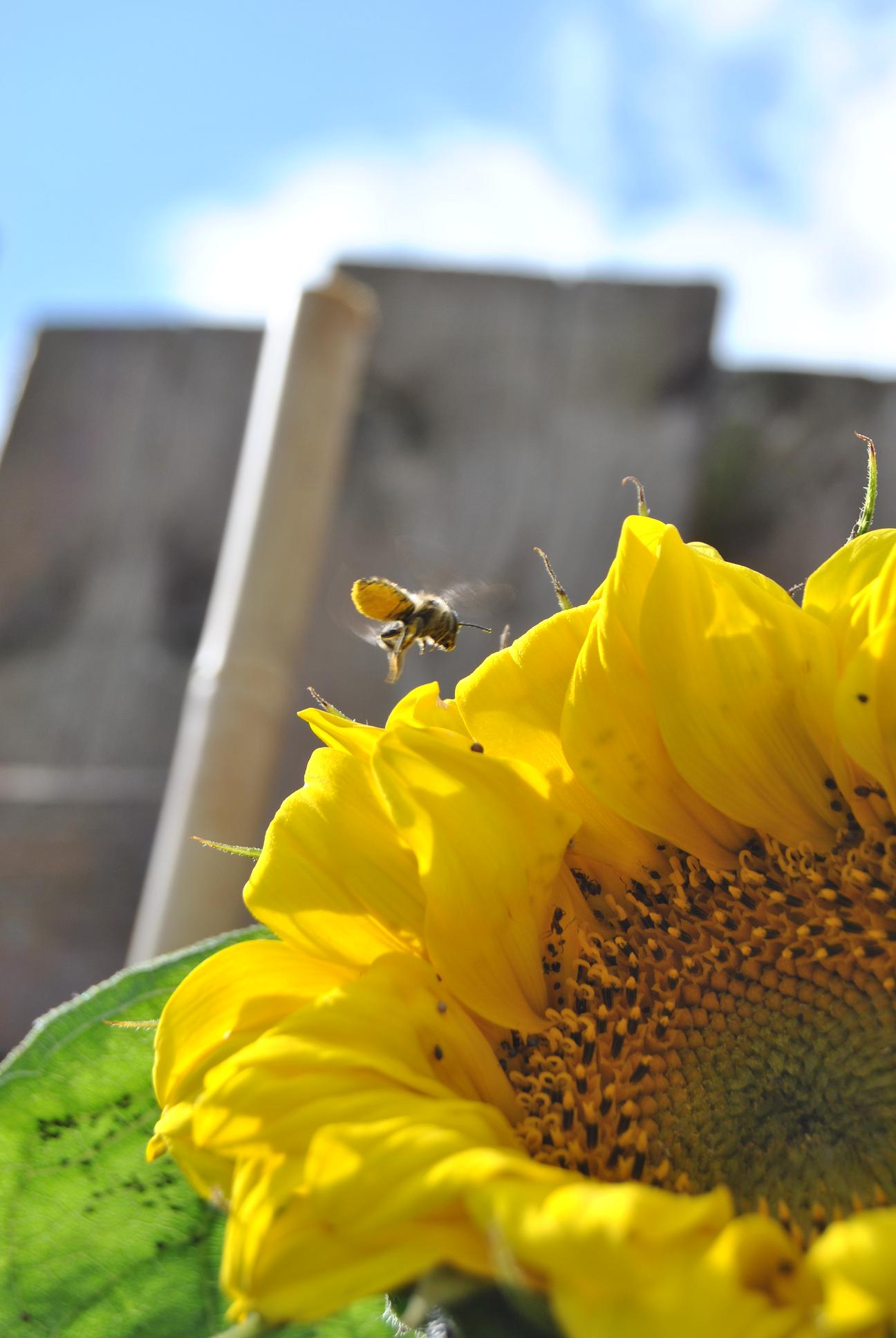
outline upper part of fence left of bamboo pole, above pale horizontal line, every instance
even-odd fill
[[[0,475],[0,759],[166,765],[258,333],[40,340]]]

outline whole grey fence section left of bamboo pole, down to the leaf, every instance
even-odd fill
[[[0,467],[0,1049],[122,963],[258,343],[39,341]]]

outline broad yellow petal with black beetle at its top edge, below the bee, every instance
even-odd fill
[[[390,729],[374,772],[418,862],[435,969],[489,1021],[538,1028],[550,890],[576,819],[533,768],[447,731]]]

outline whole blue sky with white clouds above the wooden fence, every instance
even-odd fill
[[[893,0],[5,0],[0,411],[43,320],[260,320],[340,253],[726,285],[896,375]]]

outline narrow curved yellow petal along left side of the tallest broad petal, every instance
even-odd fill
[[[734,862],[750,834],[682,777],[642,664],[642,607],[670,530],[640,516],[623,526],[569,685],[563,744],[576,775],[608,808],[719,868]]]

